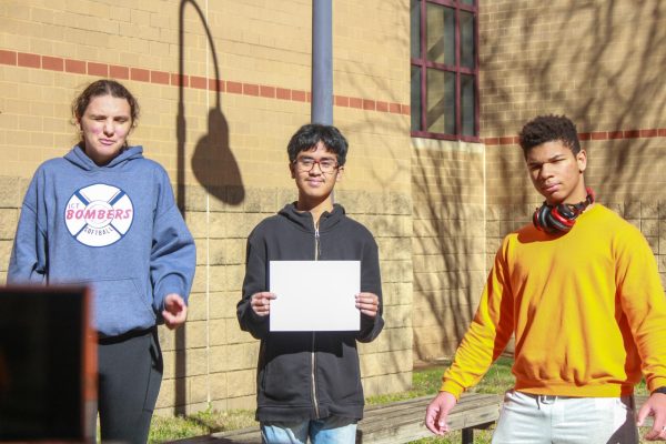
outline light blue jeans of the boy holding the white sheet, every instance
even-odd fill
[[[261,423],[261,438],[265,444],[354,444],[356,420],[329,416],[322,420]]]

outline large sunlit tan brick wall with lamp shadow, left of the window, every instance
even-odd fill
[[[198,246],[189,322],[160,331],[158,413],[252,408],[258,343],[239,330],[235,303],[248,233],[295,199],[285,147],[310,120],[311,2],[185,2],[182,48],[178,0],[47,3],[0,6],[1,282],[28,180],[75,143],[71,100],[95,78],[121,80],[142,108],[130,142],[164,165],[174,190],[184,179],[180,198]],[[385,293],[386,330],[361,347],[372,395],[411,384],[408,28],[401,26],[408,3],[340,0],[333,12],[334,120],[351,145],[335,198],[374,232]]]

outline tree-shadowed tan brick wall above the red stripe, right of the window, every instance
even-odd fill
[[[482,135],[517,133],[538,113],[581,131],[665,128],[660,0],[482,0]]]

